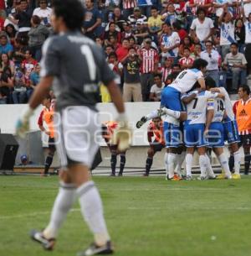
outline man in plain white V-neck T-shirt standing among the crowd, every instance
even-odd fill
[[[213,20],[206,17],[206,11],[197,9],[197,18],[192,21],[191,36],[194,43],[204,44],[213,35]]]

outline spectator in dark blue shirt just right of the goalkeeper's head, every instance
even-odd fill
[[[95,39],[95,37],[99,35],[96,34],[96,29],[102,23],[100,13],[98,9],[94,7],[94,0],[85,0],[85,7],[85,36],[88,36],[90,39]]]

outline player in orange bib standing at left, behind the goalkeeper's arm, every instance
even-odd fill
[[[54,159],[54,153],[56,151],[54,143],[54,105],[52,105],[51,97],[49,95],[44,98],[42,105],[44,106],[44,109],[40,112],[38,118],[38,126],[42,132],[46,133],[49,136],[49,153],[45,159],[44,173],[42,173],[41,175],[47,176],[49,172],[49,167]],[[44,128],[44,123],[46,123],[48,129]]]

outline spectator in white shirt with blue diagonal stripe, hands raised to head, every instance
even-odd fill
[[[223,60],[230,50],[230,44],[235,42],[232,18],[232,14],[228,12],[227,6],[224,6],[223,13],[218,18],[218,24],[221,28],[220,46]]]

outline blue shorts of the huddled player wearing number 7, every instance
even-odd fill
[[[194,123],[189,124],[187,121],[184,126],[184,142],[187,148],[196,146],[206,147],[208,145],[207,139],[204,138],[205,124]]]

